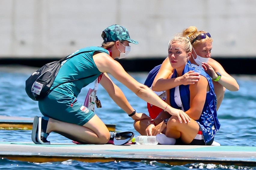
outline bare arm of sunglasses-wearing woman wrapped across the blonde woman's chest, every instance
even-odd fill
[[[168,89],[172,89],[176,86],[179,86],[181,84],[187,85],[187,84],[194,84],[199,79],[199,73],[194,71],[189,71],[185,73],[183,76],[178,78],[172,78],[169,79],[173,73],[173,68],[171,66],[171,63],[169,61],[169,58],[167,57],[160,67],[159,72],[157,73],[153,84],[152,84],[152,90],[154,91],[165,91]]]

